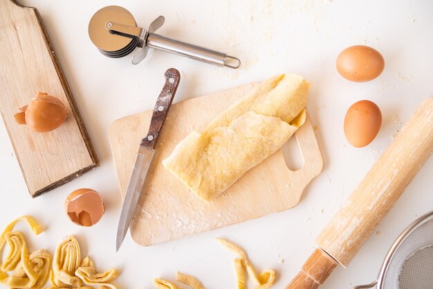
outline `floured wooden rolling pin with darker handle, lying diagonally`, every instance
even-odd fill
[[[378,158],[286,289],[318,288],[340,263],[344,268],[389,212],[433,150],[433,97],[424,100]]]

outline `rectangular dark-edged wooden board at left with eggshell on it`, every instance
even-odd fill
[[[71,90],[36,8],[0,0],[0,113],[30,195],[55,189],[99,165]],[[13,115],[39,91],[58,97],[66,122],[48,133]]]

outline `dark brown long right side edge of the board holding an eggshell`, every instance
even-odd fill
[[[15,1],[13,1],[13,2],[17,3]],[[21,6],[21,5],[19,5],[19,6]],[[26,6],[21,6],[21,7],[26,8]],[[30,8],[30,7],[27,7],[27,8]],[[39,14],[39,11],[37,10],[37,8],[31,7],[30,9],[33,10],[33,12],[35,13],[35,17],[37,19],[39,27],[41,28],[42,37],[44,38],[46,48],[48,49],[48,51],[50,51],[51,61],[54,64],[55,71],[57,72],[57,76],[59,77],[60,83],[62,84],[66,98],[68,99],[68,102],[71,105],[73,116],[75,118],[75,121],[77,122],[78,128],[80,129],[80,133],[81,133],[81,136],[84,140],[84,143],[86,144],[87,151],[89,151],[91,160],[93,161],[93,165],[95,165],[96,167],[99,167],[100,161],[98,159],[98,156],[96,155],[95,147],[93,147],[89,133],[87,132],[86,127],[84,126],[84,122],[82,120],[80,111],[78,111],[78,107],[77,107],[77,104],[76,104],[75,99],[73,97],[73,94],[71,92],[71,88],[69,87],[69,84],[66,81],[66,77],[64,76],[62,66],[60,65],[59,59],[57,59],[57,55],[55,54],[53,44],[51,44],[50,37],[48,35],[48,32],[46,31],[46,28],[44,26],[44,22],[42,21],[42,17]],[[86,168],[84,168],[84,169],[86,169]],[[66,177],[66,178],[68,178],[68,177]]]

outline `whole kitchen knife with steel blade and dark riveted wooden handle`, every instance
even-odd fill
[[[149,131],[147,136],[140,142],[136,162],[133,165],[131,177],[125,194],[125,199],[122,205],[122,212],[120,213],[118,232],[116,236],[116,252],[118,252],[120,245],[128,232],[129,225],[136,210],[138,198],[142,192],[142,187],[145,185],[147,171],[151,166],[154,158],[156,145],[160,131],[163,128],[165,119],[170,106],[172,105],[174,95],[181,80],[181,74],[175,68],[169,68],[164,73],[165,84],[163,90],[156,100],[154,112],[152,113]]]

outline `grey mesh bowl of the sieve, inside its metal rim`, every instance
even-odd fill
[[[378,287],[433,289],[432,246],[433,216],[430,216],[400,243]]]

